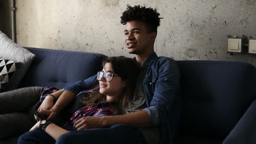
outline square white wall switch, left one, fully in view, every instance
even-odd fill
[[[242,52],[242,38],[228,38],[228,52]]]

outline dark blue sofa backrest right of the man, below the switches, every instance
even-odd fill
[[[179,135],[224,139],[256,96],[255,67],[243,62],[178,61]]]

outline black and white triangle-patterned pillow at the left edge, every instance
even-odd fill
[[[15,71],[16,63],[14,61],[0,58],[0,91],[7,86]]]

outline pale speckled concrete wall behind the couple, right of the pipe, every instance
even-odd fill
[[[164,17],[155,44],[159,56],[256,65],[256,56],[226,53],[227,35],[256,37],[255,0],[22,0],[16,2],[18,44],[133,57],[120,24],[127,4],[156,8]]]

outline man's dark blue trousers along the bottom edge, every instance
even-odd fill
[[[64,127],[67,130],[72,128]],[[124,124],[115,124],[109,128],[97,128],[70,131],[61,135],[56,141],[43,130],[28,131],[19,137],[18,143],[147,143],[141,130]]]

